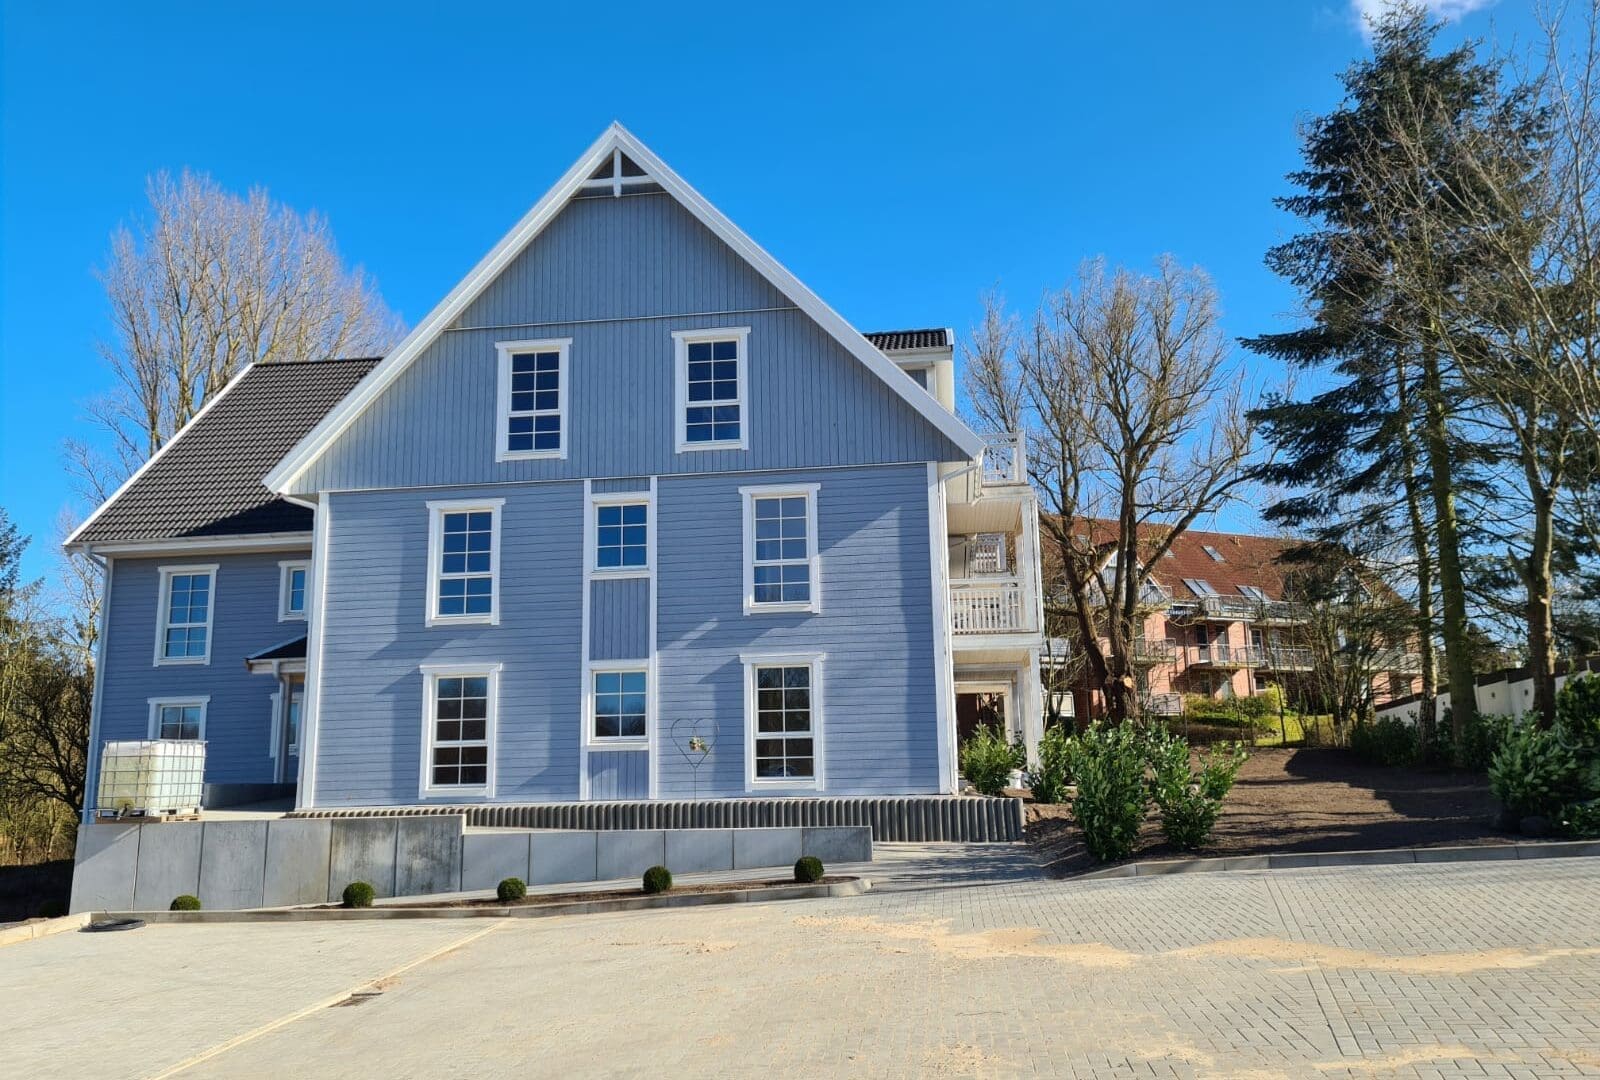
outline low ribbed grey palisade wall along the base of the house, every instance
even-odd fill
[[[1021,798],[906,795],[888,798],[720,798],[462,806],[306,810],[296,818],[466,814],[499,829],[805,829],[866,826],[880,843],[982,843],[1022,838]]]

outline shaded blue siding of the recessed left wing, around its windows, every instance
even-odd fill
[[[101,741],[149,738],[150,698],[210,694],[206,782],[270,784],[272,693],[278,680],[251,675],[245,658],[306,634],[306,622],[278,622],[278,560],[306,555],[182,554],[115,560],[110,595],[106,597],[109,621],[101,672]],[[211,589],[211,662],[157,666],[160,568],[206,563],[218,565]],[[98,760],[99,749],[94,747],[93,754]]]

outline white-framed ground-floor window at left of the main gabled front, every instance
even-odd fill
[[[422,667],[422,795],[494,794],[499,664]]]

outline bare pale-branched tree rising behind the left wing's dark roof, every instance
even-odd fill
[[[326,219],[210,176],[150,178],[150,213],[112,235],[101,282],[115,387],[91,403],[110,453],[69,443],[91,498],[162,448],[246,363],[378,355],[402,334],[371,278],[346,269]]]

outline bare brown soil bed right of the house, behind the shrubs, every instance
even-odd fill
[[[1349,750],[1262,747],[1240,770],[1205,848],[1170,846],[1152,813],[1130,861],[1515,842],[1490,824],[1494,810],[1480,773],[1370,765]],[[1067,806],[1027,803],[1026,835],[1051,877],[1098,869]]]

